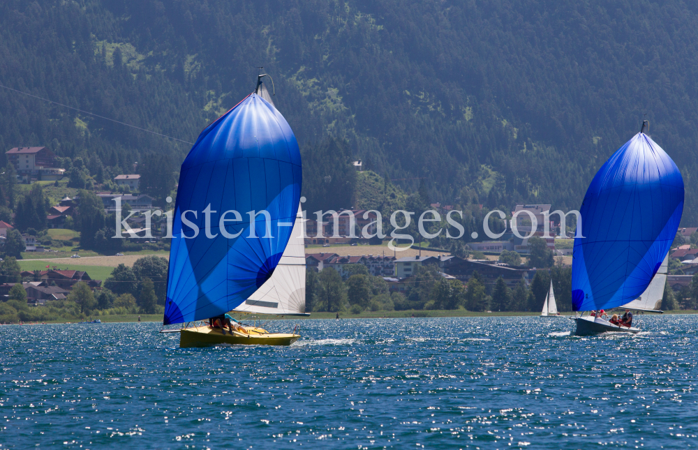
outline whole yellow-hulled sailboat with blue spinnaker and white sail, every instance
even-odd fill
[[[179,332],[181,347],[300,337],[297,327],[269,333],[227,314],[306,315],[300,151],[265,76],[201,132],[181,165],[163,317],[184,324],[163,330]]]

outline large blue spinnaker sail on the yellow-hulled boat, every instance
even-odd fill
[[[293,228],[301,181],[296,138],[260,96],[246,97],[202,131],[179,174],[164,324],[226,313],[272,276]],[[223,217],[225,211],[239,216]],[[258,213],[254,220],[251,211]]]

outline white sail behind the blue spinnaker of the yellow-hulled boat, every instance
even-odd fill
[[[234,311],[272,315],[306,315],[304,228],[303,215],[299,206],[291,237],[274,273]]]

